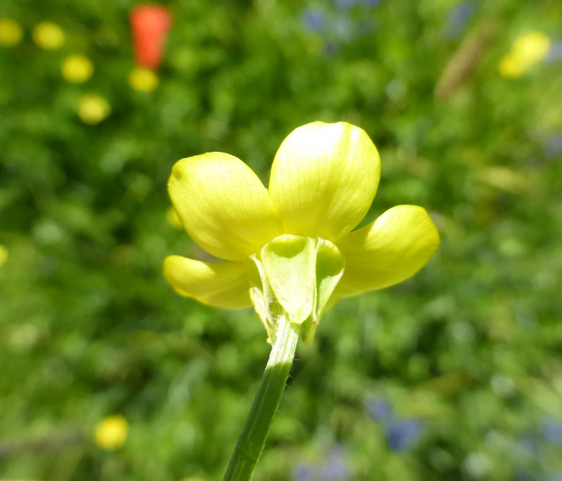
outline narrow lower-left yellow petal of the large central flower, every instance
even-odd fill
[[[252,305],[250,283],[242,262],[200,262],[182,256],[164,259],[164,278],[174,291],[222,309]]]

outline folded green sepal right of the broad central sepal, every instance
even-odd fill
[[[322,312],[332,297],[332,293],[343,275],[344,268],[345,262],[338,247],[329,242],[329,240],[318,239],[316,244],[316,296],[314,309],[310,317],[301,326],[301,339],[303,339],[307,346],[311,346],[314,341],[314,335],[316,334],[316,328],[318,327],[318,322],[320,322]]]

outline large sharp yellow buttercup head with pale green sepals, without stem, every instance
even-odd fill
[[[173,167],[168,188],[188,234],[217,258],[164,260],[177,293],[225,309],[254,306],[274,337],[286,313],[312,343],[338,298],[382,289],[417,272],[439,245],[427,212],[398,205],[352,231],[375,197],[376,147],[361,128],[296,128],[274,157],[269,188],[237,157],[206,153]]]

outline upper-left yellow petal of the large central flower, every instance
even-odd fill
[[[283,233],[268,191],[232,155],[207,153],[180,160],[168,189],[188,234],[213,256],[244,260]]]

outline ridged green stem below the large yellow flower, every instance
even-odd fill
[[[300,327],[299,324],[289,322],[286,315],[279,317],[277,338],[271,349],[266,372],[259,383],[250,414],[240,433],[223,481],[249,481],[252,478],[289,377]]]

